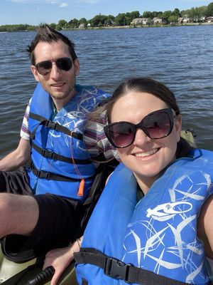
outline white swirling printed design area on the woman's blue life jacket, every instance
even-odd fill
[[[185,282],[195,284],[199,275],[200,280],[205,280],[204,251],[195,229],[197,215],[212,182],[208,173],[199,171],[194,176],[196,180],[190,175],[178,177],[168,190],[166,199],[169,200],[155,207],[149,203],[143,207],[145,200],[141,199],[141,207],[139,203],[136,211],[141,213],[140,219],[129,224],[122,261],[128,263],[131,257],[136,266],[171,278],[172,269],[177,276],[177,270],[182,274],[184,268]],[[159,202],[163,199],[161,195]]]

